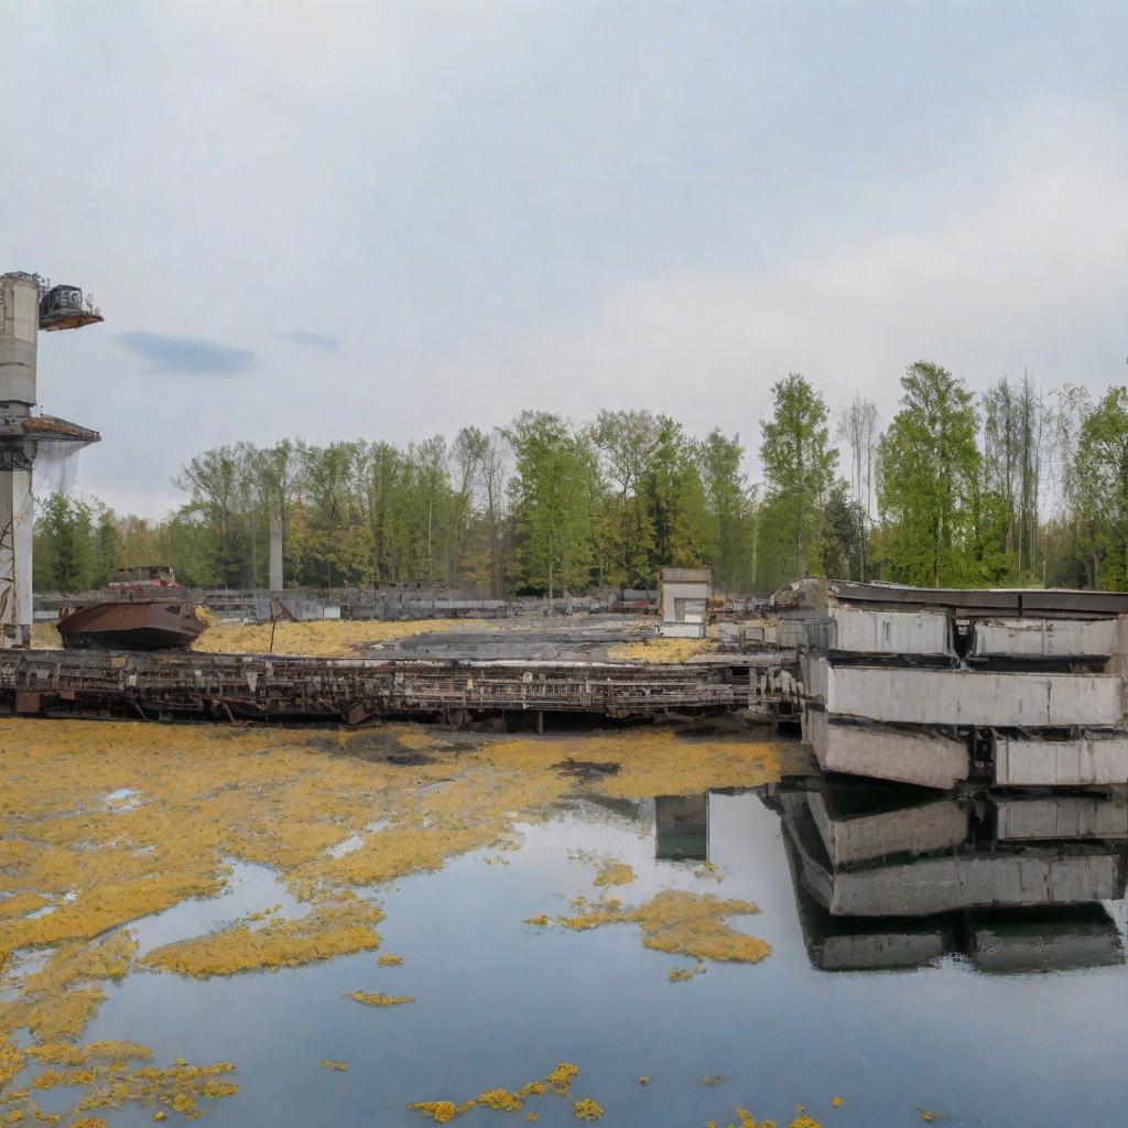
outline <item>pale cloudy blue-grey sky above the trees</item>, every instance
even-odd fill
[[[1128,5],[0,0],[0,271],[78,488],[222,442],[650,408],[906,365],[1128,382]]]

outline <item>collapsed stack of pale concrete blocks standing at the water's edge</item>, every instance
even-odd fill
[[[1128,783],[1128,594],[800,581],[803,729],[826,772],[949,788]]]

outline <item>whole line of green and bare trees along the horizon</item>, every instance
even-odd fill
[[[167,563],[201,587],[265,587],[272,523],[288,585],[430,580],[501,597],[652,588],[708,565],[731,593],[801,575],[946,587],[1128,588],[1128,389],[1098,402],[1028,376],[978,396],[911,364],[888,423],[861,395],[835,417],[810,380],[772,386],[761,481],[738,434],[649,411],[573,423],[522,412],[404,446],[283,439],[203,451],[162,520],[53,495],[36,585],[99,587]]]

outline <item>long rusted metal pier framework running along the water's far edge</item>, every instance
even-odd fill
[[[793,685],[793,684],[792,684]],[[716,664],[435,662],[252,654],[0,654],[0,708],[147,720],[380,717],[468,723],[510,713],[617,720],[735,713],[772,722],[793,689]]]

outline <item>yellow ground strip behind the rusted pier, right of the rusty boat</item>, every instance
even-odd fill
[[[412,619],[382,623],[373,619],[280,620],[274,629],[275,654],[310,658],[350,658],[364,646],[396,642],[413,635],[452,631],[467,623],[475,631],[496,629],[491,620]],[[205,631],[192,649],[211,654],[265,654],[271,647],[270,623],[220,623]]]

